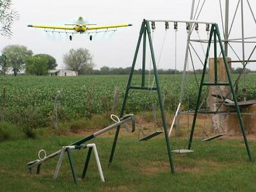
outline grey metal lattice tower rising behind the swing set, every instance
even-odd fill
[[[202,13],[202,10],[205,6],[205,1],[207,1],[207,0],[192,0],[191,15],[190,15],[191,20],[197,20],[200,17],[200,14]],[[224,48],[225,48],[225,54],[226,54],[226,56],[229,56],[230,55],[229,51],[232,51],[236,55],[236,58],[237,58],[237,60],[233,60],[232,63],[241,63],[243,65],[243,99],[244,99],[244,101],[246,101],[246,66],[248,65],[248,63],[256,62],[256,60],[251,59],[252,54],[256,49],[256,40],[255,40],[256,36],[245,36],[244,35],[244,31],[245,31],[244,6],[246,6],[246,4],[247,4],[248,9],[250,10],[250,14],[252,14],[253,21],[256,24],[255,14],[253,13],[250,0],[237,0],[236,2],[235,2],[235,0],[233,0],[232,3],[236,3],[236,10],[232,14],[230,14],[230,1],[229,0],[225,0],[225,9],[223,9],[223,7],[221,5],[221,0],[218,0],[218,2],[220,5],[220,15],[221,15],[221,25],[220,26],[222,26],[222,28],[223,28],[222,29],[223,30],[223,44],[224,44]],[[225,14],[223,12],[225,12]],[[232,32],[232,30],[234,30],[234,21],[239,12],[241,13],[241,29],[239,28],[239,29],[237,29],[237,31],[241,30],[241,36],[239,36],[238,38],[231,39],[230,33]],[[232,15],[232,17],[230,17],[230,15]],[[230,19],[232,19],[232,20],[230,20]],[[231,22],[229,23],[229,21],[231,21]],[[186,47],[182,82],[184,81],[184,78],[186,75],[189,43],[191,40],[190,36],[191,36],[191,31],[189,31],[189,33],[188,33],[188,42],[187,42],[187,47]],[[248,41],[248,40],[251,40],[251,41]],[[237,54],[238,51],[236,49],[234,49],[234,47],[232,46],[232,43],[241,44],[241,50],[242,50],[241,57],[239,57],[239,54]],[[246,54],[245,54],[246,44],[248,44],[248,43],[253,44],[254,48],[253,48],[252,52],[250,52],[250,56],[248,58],[246,58]],[[184,84],[182,83],[181,93],[180,93],[180,103],[182,103],[182,99],[183,99],[183,95],[184,95],[183,92],[184,92]]]

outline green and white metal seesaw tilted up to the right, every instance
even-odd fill
[[[80,149],[83,149],[83,148],[89,148],[88,154],[87,154],[87,157],[86,157],[86,161],[85,161],[85,164],[84,164],[83,174],[82,174],[81,179],[84,179],[84,177],[86,175],[86,170],[88,168],[88,164],[89,164],[89,161],[90,161],[90,156],[91,156],[92,150],[93,150],[94,155],[95,155],[95,160],[96,160],[96,163],[97,163],[97,168],[99,170],[100,180],[102,180],[102,182],[105,182],[104,175],[103,175],[102,168],[101,168],[101,164],[100,164],[99,155],[98,155],[98,152],[97,152],[97,147],[96,147],[95,143],[89,143],[89,144],[86,144],[86,145],[84,145],[83,143],[85,143],[86,141],[90,141],[93,138],[96,138],[97,136],[99,136],[100,134],[103,134],[104,132],[110,131],[111,129],[114,129],[115,127],[118,127],[120,125],[123,125],[127,132],[134,132],[135,131],[134,115],[132,115],[132,114],[125,115],[122,118],[118,118],[118,116],[116,116],[116,115],[111,115],[111,119],[115,122],[115,124],[109,125],[108,127],[105,127],[104,129],[101,129],[100,131],[97,131],[93,134],[90,134],[90,135],[86,136],[85,138],[83,138],[81,140],[78,140],[75,143],[72,143],[68,146],[63,146],[61,148],[61,150],[58,150],[58,151],[50,154],[49,156],[46,155],[45,150],[40,150],[38,152],[38,158],[39,159],[36,159],[35,161],[30,161],[27,164],[28,168],[30,170],[30,173],[32,173],[32,168],[36,166],[36,174],[39,174],[40,173],[40,166],[41,166],[42,163],[51,159],[52,157],[60,155],[58,164],[56,166],[56,170],[54,172],[54,177],[53,177],[53,179],[56,180],[57,177],[58,177],[58,174],[60,172],[60,166],[61,166],[64,154],[65,154],[65,152],[67,152],[68,161],[70,163],[70,167],[71,167],[71,170],[72,170],[74,182],[75,182],[75,184],[77,184],[77,174],[76,174],[76,170],[74,168],[74,162],[73,162],[73,159],[72,159],[71,150],[77,150],[77,149],[80,150]],[[131,121],[131,123],[132,123],[131,130],[129,130],[129,128],[125,124],[125,122],[128,122],[128,121]],[[40,156],[40,154],[42,154],[42,152],[44,152],[44,157]]]

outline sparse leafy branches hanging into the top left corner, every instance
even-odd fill
[[[0,0],[0,34],[12,36],[12,24],[19,19],[19,15],[11,8],[12,0]]]

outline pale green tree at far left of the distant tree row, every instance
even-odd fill
[[[8,58],[8,65],[12,68],[14,76],[24,69],[26,58],[33,56],[33,52],[23,45],[8,45],[4,47],[2,54]]]

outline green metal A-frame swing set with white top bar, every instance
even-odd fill
[[[205,24],[207,33],[209,33],[209,41],[208,41],[207,51],[205,53],[205,61],[203,63],[204,69],[203,69],[203,73],[202,73],[202,79],[201,79],[200,84],[198,84],[198,89],[199,90],[198,90],[198,97],[197,97],[196,106],[195,106],[195,115],[194,115],[194,118],[193,118],[191,133],[189,135],[189,141],[187,143],[188,148],[183,148],[183,149],[180,148],[180,149],[177,149],[177,150],[172,150],[173,146],[171,146],[171,144],[170,144],[169,136],[172,132],[174,121],[173,121],[172,126],[170,128],[170,132],[168,132],[166,118],[165,118],[165,115],[164,115],[163,97],[162,97],[161,88],[160,88],[160,85],[159,85],[159,76],[158,76],[158,73],[157,73],[157,65],[158,64],[156,63],[156,57],[155,57],[155,54],[154,54],[154,46],[153,46],[153,41],[152,41],[152,33],[151,33],[151,30],[150,30],[150,22],[151,22],[152,31],[154,31],[154,29],[156,29],[156,22],[164,22],[166,30],[169,29],[169,23],[172,22],[174,24],[175,31],[177,31],[177,24],[178,23],[185,23],[186,24],[186,29],[188,31],[188,37],[190,37],[190,35],[191,35],[191,28],[192,28],[193,24],[194,24],[194,26],[196,26],[197,29],[198,29],[199,24]],[[152,86],[145,86],[145,63],[146,63],[146,42],[147,42],[147,38],[148,38],[149,47],[150,47],[150,55],[151,55],[150,60],[152,60],[153,71],[154,71],[154,81],[152,83]],[[212,38],[213,38],[213,41],[212,41]],[[140,86],[132,86],[131,85],[132,76],[133,76],[133,73],[134,73],[134,67],[136,65],[136,60],[137,60],[137,57],[138,57],[138,52],[139,52],[139,49],[140,49],[140,44],[141,44],[142,39],[143,39],[143,54],[142,54],[143,58],[142,58],[141,84],[140,84]],[[177,39],[177,36],[176,36],[176,39]],[[214,69],[215,69],[214,83],[204,81],[205,71],[206,71],[206,68],[207,68],[207,60],[209,58],[209,51],[210,51],[210,47],[211,47],[212,42],[214,44]],[[217,71],[218,71],[218,62],[217,62],[217,45],[218,45],[218,43],[220,44],[221,54],[223,56],[223,60],[224,60],[224,63],[225,63],[225,70],[227,72],[228,82],[219,82],[218,81],[218,73],[217,73]],[[177,44],[177,40],[176,40],[175,44]],[[184,68],[185,67],[186,66],[184,66]],[[184,81],[183,78],[184,78],[184,76],[182,76],[182,81]],[[156,86],[154,86],[154,83],[156,83]],[[239,109],[239,106],[237,104],[236,92],[234,91],[233,82],[232,82],[232,79],[230,77],[230,71],[229,71],[229,68],[228,68],[228,64],[227,64],[227,60],[226,60],[226,56],[225,56],[225,51],[224,51],[223,44],[222,44],[222,41],[221,41],[221,36],[220,36],[220,31],[219,31],[219,28],[218,28],[218,24],[213,23],[213,22],[199,22],[198,20],[145,20],[144,19],[142,24],[141,24],[140,35],[139,35],[139,38],[138,38],[138,44],[136,46],[134,59],[132,61],[131,72],[130,72],[129,80],[128,80],[127,87],[126,87],[126,90],[125,90],[125,96],[124,96],[124,101],[123,101],[123,104],[122,104],[122,109],[121,109],[121,112],[120,112],[120,117],[122,118],[122,116],[124,115],[125,105],[127,103],[127,99],[128,99],[128,95],[129,95],[130,90],[143,90],[143,91],[150,90],[151,92],[152,91],[157,92],[158,104],[159,104],[159,108],[160,108],[160,112],[161,112],[161,120],[162,120],[162,123],[163,123],[163,131],[155,130],[155,132],[151,132],[149,134],[144,134],[143,137],[140,138],[140,141],[147,141],[147,140],[149,140],[151,138],[154,138],[155,136],[157,136],[161,133],[164,133],[164,138],[165,138],[165,141],[166,141],[166,148],[167,148],[167,152],[168,152],[168,158],[169,158],[169,161],[170,161],[170,168],[171,168],[172,173],[175,173],[173,158],[172,158],[172,152],[179,153],[179,154],[186,154],[186,153],[193,152],[193,150],[191,149],[191,146],[192,146],[192,141],[193,141],[193,134],[194,134],[194,131],[195,131],[196,117],[198,115],[198,110],[199,110],[199,107],[200,107],[200,97],[202,95],[203,86],[230,86],[231,93],[232,93],[233,98],[234,98],[234,105],[236,107],[237,117],[239,119],[239,124],[240,124],[240,127],[241,127],[241,132],[243,133],[244,143],[246,145],[246,150],[248,152],[248,157],[249,157],[250,161],[252,161],[252,156],[251,156],[251,153],[250,153],[250,147],[248,145],[248,141],[247,141],[247,138],[246,138],[246,132],[244,130],[244,124],[243,124],[243,119],[241,117],[240,109]],[[180,94],[180,95],[181,95],[180,97],[183,97],[182,94]],[[179,103],[179,107],[177,108],[177,111],[175,113],[174,118],[177,117],[177,114],[179,113],[179,110],[180,110],[180,106],[181,106],[181,102]],[[118,140],[118,134],[119,134],[119,128],[116,129],[115,139],[113,141],[113,147],[112,147],[112,150],[111,150],[111,156],[109,157],[109,163],[111,163],[113,161],[113,156],[115,154],[116,142]],[[215,137],[215,138],[217,138],[217,137]],[[214,138],[211,138],[211,139],[214,139]],[[175,143],[173,143],[173,145],[175,145]]]

